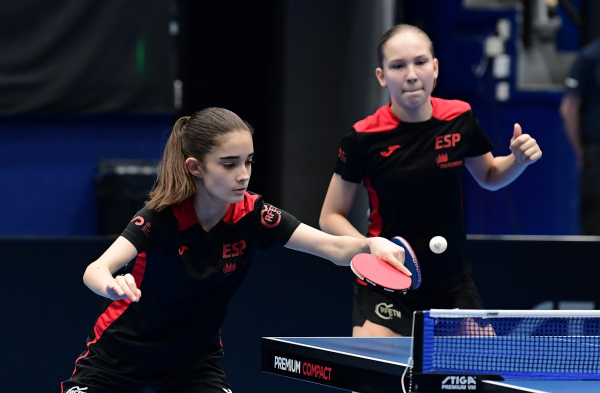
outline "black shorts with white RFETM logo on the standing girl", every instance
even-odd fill
[[[473,280],[439,291],[417,289],[405,295],[356,283],[352,324],[362,326],[368,319],[403,336],[412,336],[413,312],[432,308],[481,310],[483,304]]]

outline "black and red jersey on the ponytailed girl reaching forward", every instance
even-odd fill
[[[160,212],[140,210],[122,236],[139,255],[125,268],[139,302],[107,300],[88,347],[150,369],[172,367],[219,339],[227,303],[257,249],[285,245],[300,222],[246,193],[208,232],[192,198]]]

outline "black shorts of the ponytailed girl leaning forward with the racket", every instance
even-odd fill
[[[222,356],[223,348],[216,342],[177,368],[155,370],[102,356],[91,345],[87,356],[75,364],[71,379],[61,384],[61,393],[129,393],[146,387],[156,393],[232,393],[217,363]]]

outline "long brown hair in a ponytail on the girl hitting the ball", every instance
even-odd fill
[[[192,196],[198,181],[188,171],[185,160],[194,157],[203,162],[217,146],[219,137],[236,130],[253,133],[250,124],[223,108],[206,108],[177,120],[165,146],[146,208],[160,211]]]

